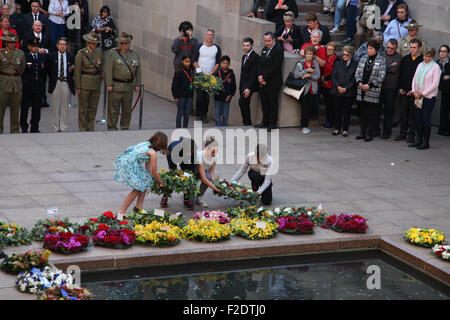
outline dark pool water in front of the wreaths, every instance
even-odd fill
[[[299,259],[300,262],[304,262],[305,256]],[[317,260],[317,257],[315,259]],[[447,286],[430,281],[427,276],[412,269],[408,273],[402,271],[398,266],[387,262],[386,257],[351,259],[341,256],[341,259],[339,262],[319,259],[307,264],[292,264],[296,262],[293,257],[270,258],[266,261],[258,259],[252,260],[251,263],[213,262],[207,266],[198,263],[83,274],[82,281],[83,286],[94,294],[94,299],[100,300],[448,300],[450,298]],[[282,265],[276,266],[276,261]],[[260,264],[266,266],[257,267]],[[207,272],[226,269],[226,265],[230,270]],[[376,275],[373,271],[368,272],[370,266],[379,268],[379,289],[376,288]],[[164,275],[171,272],[177,272],[178,275]],[[412,275],[414,273],[416,274]],[[372,289],[368,288],[368,283]]]

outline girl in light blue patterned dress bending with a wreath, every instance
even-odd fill
[[[119,209],[119,219],[125,216],[128,207],[136,198],[136,206],[133,210],[142,209],[145,193],[153,184],[153,179],[164,187],[157,169],[156,152],[158,151],[167,152],[167,136],[159,131],[149,141],[128,147],[114,163],[114,180],[133,189]],[[142,163],[145,163],[145,167]]]

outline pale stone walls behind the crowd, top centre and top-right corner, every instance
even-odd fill
[[[178,35],[178,25],[189,20],[194,25],[194,36],[202,41],[206,30],[215,29],[215,42],[223,54],[231,57],[231,68],[237,79],[242,57],[241,41],[250,36],[255,40],[258,53],[263,47],[262,34],[273,31],[274,24],[244,16],[250,11],[252,0],[90,0],[91,13],[97,15],[103,4],[111,8],[119,31],[133,34],[133,46],[139,51],[145,89],[172,99],[170,85],[173,75],[171,44]],[[407,0],[411,16],[423,24],[421,34],[430,46],[438,48],[450,43],[450,0]],[[232,100],[230,125],[241,125],[237,97]],[[293,99],[282,99],[280,112],[295,107]],[[295,101],[294,101],[295,102]],[[285,105],[288,103],[289,106]],[[253,98],[253,119],[260,108]],[[174,107],[174,112],[175,112]],[[210,105],[212,115],[213,105]],[[435,108],[438,112],[438,108]],[[259,115],[260,116],[260,115]],[[280,120],[283,118],[280,115]],[[256,120],[256,119],[254,119]],[[254,121],[255,122],[255,121]],[[434,121],[436,122],[436,121]],[[290,124],[291,125],[291,124]]]

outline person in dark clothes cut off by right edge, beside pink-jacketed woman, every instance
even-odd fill
[[[436,62],[442,70],[439,90],[441,91],[441,115],[438,134],[450,136],[448,113],[450,109],[450,59],[449,46],[444,44],[439,48],[439,60]]]

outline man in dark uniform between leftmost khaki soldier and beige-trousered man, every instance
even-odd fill
[[[28,132],[28,109],[31,107],[31,130],[39,132],[41,120],[42,95],[45,94],[45,63],[47,56],[40,54],[39,39],[32,38],[27,41],[25,50],[26,67],[22,74],[23,96],[20,112],[20,127],[23,133]]]

